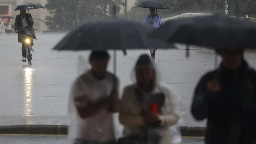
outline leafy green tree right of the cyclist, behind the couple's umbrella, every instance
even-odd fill
[[[53,30],[71,30],[84,22],[104,17],[105,0],[47,0],[45,8],[52,17],[46,17]],[[120,11],[121,0],[106,0],[107,16],[113,14],[112,7],[117,4]]]

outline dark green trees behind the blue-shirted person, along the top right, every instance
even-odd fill
[[[146,0],[138,0],[136,4],[139,4]],[[171,17],[188,12],[199,12],[207,14],[225,14],[225,0],[158,0],[162,3],[166,3],[169,10],[158,10],[161,18]],[[240,16],[256,17],[256,0],[239,0]],[[228,1],[228,15],[235,16],[237,10],[237,0]],[[127,12],[128,18],[143,20],[148,14],[146,8],[137,8],[136,6],[131,8],[131,11]]]

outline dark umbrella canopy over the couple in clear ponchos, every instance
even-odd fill
[[[140,22],[108,18],[88,22],[65,36],[54,50],[127,50],[175,48],[173,44],[166,45],[161,40],[147,39],[152,32],[151,25]]]

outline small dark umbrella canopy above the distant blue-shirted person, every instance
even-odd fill
[[[142,3],[138,4],[137,7],[142,7],[142,8],[154,7],[156,9],[170,9],[170,7],[167,6],[167,4],[160,3],[159,1],[156,1],[156,0],[143,1]]]

